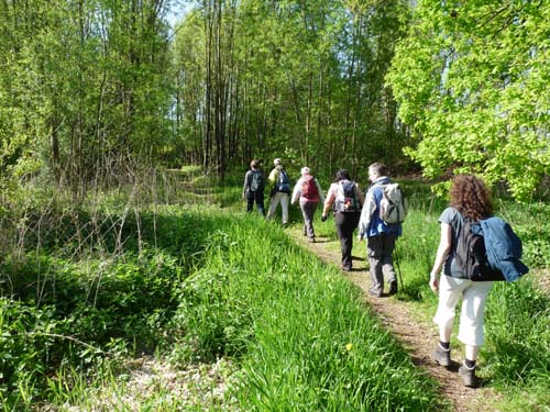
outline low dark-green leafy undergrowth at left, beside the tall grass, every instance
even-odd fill
[[[212,227],[224,224],[175,207],[128,220],[112,210],[102,213],[124,224],[86,233],[92,219],[80,210],[66,224],[53,225],[41,248],[10,255],[0,265],[4,405],[31,405],[48,397],[50,379],[58,371],[91,376],[106,365],[116,369],[121,356],[170,345],[179,283],[202,261]],[[46,218],[29,213],[25,224],[33,227],[41,218],[56,221],[54,212]],[[72,241],[75,233],[88,243]],[[73,383],[77,380],[64,382],[65,390]]]

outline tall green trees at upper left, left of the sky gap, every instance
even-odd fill
[[[170,135],[166,11],[127,0],[4,3],[0,178],[41,174],[82,196],[160,155]]]

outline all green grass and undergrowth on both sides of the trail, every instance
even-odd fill
[[[298,247],[277,221],[243,212],[240,178],[212,187],[193,169],[175,175],[153,193],[78,207],[46,203],[35,189],[32,202],[3,211],[18,242],[0,261],[0,410],[450,409],[338,265]],[[427,183],[404,186],[404,285],[392,299],[426,318],[446,203]],[[534,270],[492,292],[480,374],[502,393],[498,410],[548,411],[550,299],[531,282],[550,265],[550,207],[499,200],[498,212]],[[336,238],[333,221],[319,218],[318,235]],[[297,208],[290,220],[301,224]],[[355,242],[354,255],[364,253]],[[143,358],[186,371],[176,376],[190,386],[160,378],[132,389]]]

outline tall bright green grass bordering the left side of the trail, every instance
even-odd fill
[[[235,396],[246,411],[442,408],[339,270],[275,224],[232,222],[185,281],[178,355],[242,357]]]

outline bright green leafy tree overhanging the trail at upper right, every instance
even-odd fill
[[[505,181],[529,199],[550,174],[546,2],[419,1],[387,77],[426,176]]]

